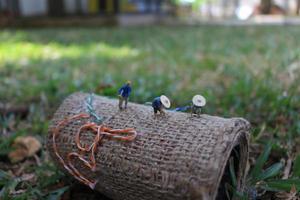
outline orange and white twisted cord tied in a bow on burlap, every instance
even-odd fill
[[[75,135],[75,143],[77,148],[82,152],[91,153],[89,157],[89,161],[84,159],[82,155],[80,155],[77,152],[71,152],[67,155],[67,163],[65,160],[61,157],[61,155],[58,153],[58,148],[56,146],[56,137],[59,135],[59,130],[62,126],[66,126],[68,123],[70,123],[72,120],[77,120],[80,118],[89,118],[90,115],[86,113],[80,113],[71,117],[68,117],[62,121],[60,121],[53,131],[52,136],[52,143],[53,143],[53,150],[55,155],[58,157],[59,161],[62,163],[64,168],[74,176],[77,180],[80,182],[88,185],[92,189],[95,188],[95,185],[97,184],[97,181],[89,180],[88,178],[84,177],[73,165],[74,158],[78,158],[80,161],[83,162],[83,164],[91,169],[93,172],[96,171],[96,159],[95,159],[95,153],[97,151],[97,147],[100,144],[100,142],[103,140],[105,136],[107,136],[110,139],[116,139],[120,141],[132,141],[136,138],[137,133],[133,128],[126,128],[126,129],[111,129],[109,127],[106,127],[104,125],[97,125],[94,122],[87,122],[84,125],[82,125],[76,135]],[[90,146],[84,147],[82,146],[80,142],[80,134],[84,130],[89,130],[93,134],[95,134],[95,138],[93,143]]]

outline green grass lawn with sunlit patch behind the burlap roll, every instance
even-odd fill
[[[29,114],[1,116],[0,153],[15,135],[43,140],[70,93],[115,97],[131,80],[131,101],[139,103],[166,94],[175,107],[203,94],[205,113],[242,116],[253,125],[252,144],[273,141],[266,166],[288,158],[300,163],[299,35],[293,26],[1,30],[0,102],[26,105]]]

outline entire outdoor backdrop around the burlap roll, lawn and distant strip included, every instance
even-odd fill
[[[127,80],[133,102],[165,94],[175,108],[202,94],[204,113],[249,120],[247,187],[228,191],[299,198],[299,10],[300,0],[0,0],[0,199],[106,199],[59,171],[45,138],[69,94],[117,98]]]

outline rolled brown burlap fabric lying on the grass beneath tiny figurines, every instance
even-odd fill
[[[64,123],[55,140],[53,134],[62,120],[88,113],[88,96],[69,96],[49,126],[48,150],[54,162],[67,173],[68,167],[62,163],[68,160],[70,152],[90,159],[90,154],[78,149],[75,137],[80,126],[93,117]],[[250,129],[246,120],[205,114],[195,117],[171,111],[154,117],[150,106],[129,103],[126,110],[120,111],[117,100],[100,96],[94,97],[92,106],[105,126],[134,128],[138,134],[133,141],[104,137],[95,148],[94,170],[80,159],[72,160],[78,172],[95,181],[95,190],[115,200],[225,199],[225,183],[231,183],[229,158],[234,161],[237,188],[243,189]],[[85,147],[94,141],[95,135],[90,132],[81,132],[80,140]]]

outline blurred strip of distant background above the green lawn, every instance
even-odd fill
[[[67,18],[63,24],[78,23],[89,17],[92,24],[110,21],[126,23],[165,22],[176,16],[185,22],[216,20],[250,20],[280,22],[288,17],[298,21],[299,0],[1,0],[1,24],[20,24],[20,19],[50,23],[50,17]],[[139,15],[141,18],[130,17]],[[262,16],[264,15],[264,16]],[[272,15],[272,17],[266,17]],[[109,17],[108,17],[109,16]],[[179,18],[178,18],[179,17]],[[24,21],[22,21],[24,23]],[[91,21],[83,24],[91,24]],[[31,24],[31,25],[32,25]],[[24,24],[23,24],[24,25]]]

